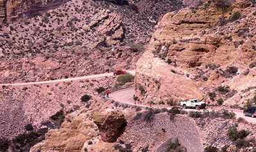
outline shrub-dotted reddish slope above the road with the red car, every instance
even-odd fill
[[[0,3],[8,21],[0,25],[1,83],[134,69],[158,18],[182,7],[177,1],[161,2],[139,13],[132,2],[32,3]]]

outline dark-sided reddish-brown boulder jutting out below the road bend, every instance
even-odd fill
[[[93,115],[93,122],[98,126],[102,140],[105,142],[116,141],[124,121],[124,114],[114,109],[103,109]]]

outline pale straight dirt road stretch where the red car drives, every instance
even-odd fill
[[[135,70],[126,71],[126,72],[135,75]],[[104,77],[104,76],[113,76],[113,73],[95,74],[95,75],[81,76],[81,77],[76,77],[76,78],[55,79],[55,80],[49,80],[49,81],[38,81],[38,82],[28,82],[28,83],[2,83],[2,84],[0,84],[0,86],[3,86],[3,85],[6,85],[6,86],[38,85],[38,84],[44,84],[44,83],[56,83],[56,82],[65,82],[65,81],[72,81],[72,80],[100,78],[100,77]]]

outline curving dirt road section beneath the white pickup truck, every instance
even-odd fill
[[[112,100],[115,100],[117,102],[120,102],[121,104],[129,104],[129,105],[133,105],[133,106],[140,106],[140,107],[150,107],[149,104],[138,104],[137,102],[134,102],[133,100],[133,95],[134,95],[135,91],[134,88],[127,88],[124,90],[119,90],[113,93],[109,93],[109,98]],[[156,108],[163,108],[163,106],[159,106],[159,105],[152,105],[152,107],[156,107]],[[164,107],[166,107],[167,109],[171,109],[171,106],[168,105],[164,105]],[[208,107],[209,110],[214,109],[215,111],[218,111],[220,109],[228,109],[227,107]],[[196,111],[196,109],[184,109],[185,111]],[[201,110],[202,111],[202,110]],[[244,116],[243,115],[243,111],[239,110],[239,109],[228,109],[228,111],[233,111],[234,113],[236,113],[236,118],[244,118],[244,120],[250,122],[250,123],[256,123],[256,118],[251,118],[248,116]]]

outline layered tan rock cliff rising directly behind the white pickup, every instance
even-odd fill
[[[204,3],[164,15],[136,68],[141,100],[199,98],[239,104],[254,95],[256,10],[250,1]]]

